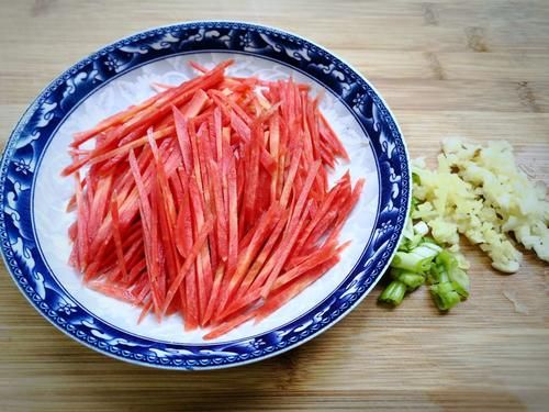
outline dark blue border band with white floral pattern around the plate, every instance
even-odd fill
[[[47,142],[70,111],[116,76],[176,54],[249,53],[299,69],[332,90],[370,137],[380,175],[380,208],[372,237],[352,272],[314,310],[268,333],[223,344],[156,342],[121,332],[89,314],[59,287],[38,253],[31,192]],[[82,59],[55,79],[13,131],[0,169],[0,238],[14,281],[48,321],[105,355],[171,369],[236,366],[300,345],[347,314],[380,279],[396,248],[410,203],[410,169],[401,132],[376,90],[322,47],[285,32],[248,23],[193,22],[135,34]]]

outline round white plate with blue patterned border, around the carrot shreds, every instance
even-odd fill
[[[340,240],[352,240],[340,264],[258,325],[242,325],[217,341],[183,331],[172,315],[136,324],[139,309],[82,286],[67,264],[65,212],[72,178],[67,146],[76,131],[154,91],[154,81],[195,76],[189,60],[228,74],[265,79],[292,76],[324,94],[321,110],[367,186]],[[56,327],[105,355],[168,369],[212,369],[264,359],[318,335],[345,316],[380,279],[400,240],[410,203],[410,169],[399,126],[373,87],[326,49],[276,29],[238,22],[192,22],[155,29],[109,45],[55,79],[13,131],[0,171],[0,236],[7,267],[21,292]]]

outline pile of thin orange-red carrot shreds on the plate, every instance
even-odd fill
[[[77,133],[70,264],[86,285],[214,338],[261,321],[322,277],[363,180],[327,174],[348,159],[292,79],[211,70]],[[93,145],[94,143],[94,145]],[[93,148],[86,148],[93,146]]]

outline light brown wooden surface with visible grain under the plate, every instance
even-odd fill
[[[155,25],[276,25],[350,62],[382,92],[412,156],[439,140],[505,138],[549,182],[549,1],[0,0],[0,138],[48,81]],[[0,411],[548,410],[548,266],[502,276],[470,250],[472,296],[439,315],[425,290],[397,310],[379,290],[282,356],[183,374],[107,358],[43,320],[0,269]],[[504,296],[513,293],[515,305]]]

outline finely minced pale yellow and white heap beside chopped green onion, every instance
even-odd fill
[[[504,141],[486,146],[452,138],[442,143],[438,169],[412,163],[413,219],[427,223],[435,241],[459,249],[459,233],[478,244],[504,272],[518,270],[522,253],[507,236],[549,261],[549,202],[546,188],[518,169]],[[459,258],[467,267],[466,260]]]

